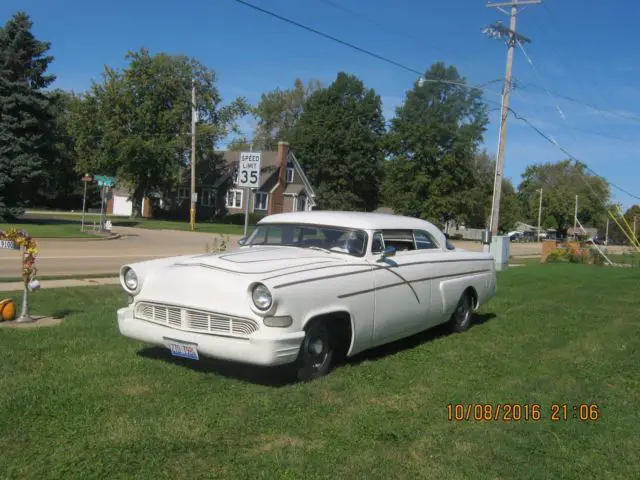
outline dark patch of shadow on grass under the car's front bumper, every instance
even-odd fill
[[[201,357],[200,360],[174,357],[168,349],[148,347],[138,351],[138,355],[152,360],[160,360],[172,365],[188,368],[198,373],[220,375],[248,383],[267,387],[284,387],[295,383],[286,366],[261,367],[238,362],[228,362]]]

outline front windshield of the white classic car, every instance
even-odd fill
[[[362,257],[367,249],[367,234],[352,228],[269,223],[258,225],[245,245],[317,248]]]

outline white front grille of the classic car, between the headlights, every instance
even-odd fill
[[[232,317],[221,313],[159,303],[139,302],[136,304],[134,315],[141,320],[167,325],[180,330],[236,337],[247,337],[258,330],[258,324],[248,318]]]

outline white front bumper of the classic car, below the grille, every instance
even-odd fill
[[[247,338],[196,333],[137,319],[127,307],[118,310],[118,328],[123,336],[152,345],[166,347],[167,339],[177,340],[195,344],[200,356],[264,366],[294,362],[305,335],[275,328],[258,330]]]

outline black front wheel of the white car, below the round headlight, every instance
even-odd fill
[[[312,320],[305,332],[295,362],[296,378],[300,382],[309,382],[329,373],[336,354],[335,339],[327,322]]]

